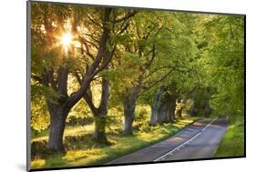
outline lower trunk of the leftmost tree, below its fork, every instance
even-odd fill
[[[51,107],[50,128],[47,148],[64,152],[63,135],[66,125],[67,112],[62,107]]]

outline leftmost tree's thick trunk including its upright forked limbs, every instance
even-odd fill
[[[50,114],[50,127],[47,148],[53,149],[57,152],[64,152],[63,135],[66,126],[66,118],[69,113],[67,106],[67,68],[64,66],[59,67],[57,71],[56,81],[53,78],[53,71],[44,71],[42,74],[43,86],[51,86],[58,94],[59,97],[49,99],[46,96],[46,104]]]

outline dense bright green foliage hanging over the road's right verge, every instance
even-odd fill
[[[211,37],[210,76],[217,87],[211,104],[225,115],[244,113],[244,27],[242,16],[215,16],[206,24]],[[221,27],[221,29],[220,29]]]

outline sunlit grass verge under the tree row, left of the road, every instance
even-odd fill
[[[108,133],[108,140],[111,146],[96,144],[90,137],[83,137],[82,140],[71,142],[71,147],[67,148],[66,154],[57,154],[46,158],[36,158],[32,160],[32,168],[47,167],[74,167],[74,166],[92,166],[102,165],[108,161],[122,157],[140,148],[148,147],[162,139],[170,137],[179,132],[185,126],[192,123],[195,118],[186,118],[177,121],[174,124],[165,124],[162,126],[148,126],[143,131],[137,131],[133,136],[122,136],[120,134]],[[87,128],[84,128],[86,130]],[[80,135],[87,133],[80,126],[71,128],[67,127],[65,136]],[[38,137],[46,139],[46,137]],[[78,148],[77,148],[78,147]]]

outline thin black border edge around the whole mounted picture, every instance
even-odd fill
[[[31,16],[31,3],[42,4],[55,4],[55,5],[84,5],[91,7],[112,7],[112,8],[131,8],[140,10],[158,10],[180,13],[193,13],[204,15],[240,15],[244,17],[244,155],[239,157],[210,157],[210,158],[195,158],[195,159],[181,159],[171,161],[158,161],[158,162],[139,162],[139,163],[121,163],[114,165],[97,165],[97,166],[77,166],[77,167],[46,167],[46,168],[31,168],[31,31],[30,31],[30,16]],[[165,164],[175,162],[192,162],[192,161],[205,161],[205,160],[219,160],[219,159],[235,159],[246,157],[246,14],[236,13],[222,13],[222,12],[204,12],[204,11],[190,11],[190,10],[177,10],[177,9],[163,9],[163,8],[149,8],[149,7],[135,7],[135,6],[122,6],[122,5],[94,5],[94,4],[82,4],[82,3],[67,3],[67,2],[54,2],[54,1],[40,1],[40,0],[27,0],[26,1],[26,171],[48,171],[48,170],[62,170],[62,169],[79,169],[79,168],[91,168],[91,167],[122,167],[122,166],[134,166],[134,165],[148,165],[148,164]]]

